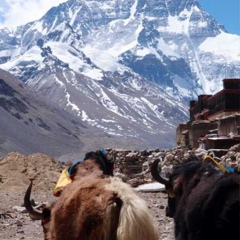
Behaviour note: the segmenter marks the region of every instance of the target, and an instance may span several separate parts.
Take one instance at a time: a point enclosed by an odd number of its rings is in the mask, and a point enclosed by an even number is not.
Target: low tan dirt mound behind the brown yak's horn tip
[[[0,160],[0,189],[26,189],[29,179],[34,178],[35,188],[51,190],[61,170],[62,166],[47,155],[12,152]]]

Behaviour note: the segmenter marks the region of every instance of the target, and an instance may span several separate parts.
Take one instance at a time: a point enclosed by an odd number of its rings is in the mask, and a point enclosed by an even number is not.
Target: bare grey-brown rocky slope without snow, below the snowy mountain
[[[31,91],[12,74],[0,70],[0,156],[12,151],[44,153],[73,160],[90,149],[147,147],[134,136],[128,139],[86,125],[43,96]]]

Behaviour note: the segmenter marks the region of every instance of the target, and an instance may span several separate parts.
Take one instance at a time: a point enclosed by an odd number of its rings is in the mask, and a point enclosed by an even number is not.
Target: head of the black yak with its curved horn
[[[176,209],[179,205],[179,201],[183,195],[183,189],[186,189],[186,185],[189,183],[189,179],[199,168],[200,161],[191,157],[186,160],[185,165],[175,166],[169,178],[161,176],[161,169],[158,167],[159,159],[156,159],[151,166],[152,177],[159,183],[165,185],[166,193],[168,194],[168,205],[166,207],[166,216],[174,217]],[[194,164],[192,164],[194,163]],[[194,165],[194,167],[193,167]]]

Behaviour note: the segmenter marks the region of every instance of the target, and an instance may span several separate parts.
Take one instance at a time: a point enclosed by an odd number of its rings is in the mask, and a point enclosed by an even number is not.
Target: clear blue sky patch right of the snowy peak
[[[240,35],[240,0],[198,0],[202,8],[224,25],[229,33]]]

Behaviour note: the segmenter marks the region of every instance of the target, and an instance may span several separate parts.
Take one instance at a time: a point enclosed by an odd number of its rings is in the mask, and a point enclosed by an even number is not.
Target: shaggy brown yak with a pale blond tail
[[[106,159],[99,162],[96,156],[87,154],[72,183],[42,211],[31,205],[30,183],[24,204],[32,219],[42,221],[45,240],[158,240],[147,203],[130,185],[104,171]]]

